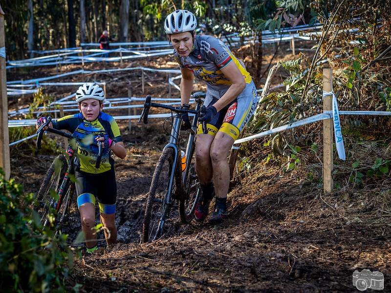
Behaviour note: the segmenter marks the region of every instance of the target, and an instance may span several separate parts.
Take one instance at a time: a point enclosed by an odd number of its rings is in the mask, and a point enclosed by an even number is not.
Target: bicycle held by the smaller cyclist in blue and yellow
[[[45,131],[49,131],[70,139],[67,146],[67,156],[61,154],[54,159],[49,169],[47,170],[43,182],[37,194],[37,202],[34,203],[33,209],[38,212],[41,218],[43,230],[50,227],[55,233],[63,227],[69,226],[69,222],[76,222],[76,219],[70,218],[70,206],[72,203],[75,184],[72,181],[71,174],[74,174],[74,143],[79,143],[81,138],[61,130],[47,127],[51,117],[46,118],[46,122],[37,130],[38,149],[41,149],[42,136]],[[102,158],[102,144],[98,142],[99,153],[95,163],[95,167],[99,168]]]

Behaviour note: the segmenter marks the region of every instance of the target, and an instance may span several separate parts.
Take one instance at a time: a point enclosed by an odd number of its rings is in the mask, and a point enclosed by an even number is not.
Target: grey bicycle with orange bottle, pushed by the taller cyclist
[[[190,224],[194,217],[195,207],[202,192],[194,166],[195,133],[198,117],[202,117],[205,113],[205,106],[201,104],[206,93],[197,92],[193,96],[196,102],[195,110],[189,109],[190,105],[172,107],[151,103],[151,96],[147,96],[145,100],[139,122],[143,120],[144,124],[147,124],[150,108],[159,107],[172,111],[172,123],[171,132],[166,130],[170,135],[169,143],[164,147],[157,162],[148,194],[142,234],[144,243],[159,239],[163,235],[165,222],[170,216],[175,200],[179,202],[179,218],[183,224]],[[180,147],[182,137],[179,131],[184,113],[194,114],[194,119],[191,128],[188,129],[186,167],[182,170]],[[203,129],[206,130],[206,127],[203,126]]]

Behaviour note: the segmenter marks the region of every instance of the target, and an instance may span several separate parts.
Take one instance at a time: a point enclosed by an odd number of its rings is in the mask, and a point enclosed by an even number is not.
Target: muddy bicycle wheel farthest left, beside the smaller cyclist
[[[56,199],[54,198],[61,188],[65,177],[68,163],[64,155],[59,155],[50,165],[45,178],[37,194],[37,203],[34,204],[34,210],[38,212],[43,227],[49,225],[50,209],[55,208]],[[54,210],[53,210],[54,211]]]

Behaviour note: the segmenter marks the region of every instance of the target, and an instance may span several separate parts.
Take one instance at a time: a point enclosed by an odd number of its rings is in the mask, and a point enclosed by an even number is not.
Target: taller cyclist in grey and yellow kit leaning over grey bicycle
[[[194,77],[207,85],[204,101],[206,115],[199,119],[207,123],[208,134],[198,126],[195,146],[195,169],[202,196],[195,209],[195,220],[203,221],[213,197],[215,208],[209,223],[226,217],[229,187],[228,151],[248,123],[257,104],[257,91],[243,63],[228,46],[212,36],[195,34],[197,20],[187,10],[176,10],[164,21],[164,30],[174,46],[174,58],[179,64],[181,103],[188,104]],[[184,115],[184,126],[190,127]]]

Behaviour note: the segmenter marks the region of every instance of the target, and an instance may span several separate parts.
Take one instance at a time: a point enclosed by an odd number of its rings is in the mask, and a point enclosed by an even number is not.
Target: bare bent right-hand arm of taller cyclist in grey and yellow
[[[217,109],[217,112],[235,100],[246,87],[246,81],[235,62],[231,61],[220,70],[231,81],[231,86],[225,94],[213,104]]]

